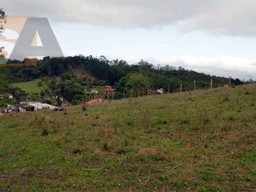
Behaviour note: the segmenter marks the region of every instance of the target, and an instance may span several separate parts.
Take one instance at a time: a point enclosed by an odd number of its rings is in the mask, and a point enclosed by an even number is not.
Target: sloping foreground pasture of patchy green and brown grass
[[[0,116],[2,191],[255,191],[256,86]]]

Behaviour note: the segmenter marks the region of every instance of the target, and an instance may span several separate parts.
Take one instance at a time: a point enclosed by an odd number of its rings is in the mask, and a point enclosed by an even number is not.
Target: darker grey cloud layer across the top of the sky
[[[9,14],[37,14],[54,22],[113,28],[178,26],[181,31],[255,36],[254,0],[3,0]]]

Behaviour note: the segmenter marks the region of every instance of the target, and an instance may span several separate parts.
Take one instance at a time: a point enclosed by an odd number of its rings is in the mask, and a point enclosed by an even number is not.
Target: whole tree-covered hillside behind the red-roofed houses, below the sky
[[[136,64],[128,64],[124,60],[109,61],[104,56],[93,58],[80,55],[63,58],[45,57],[42,60],[36,60],[35,66],[27,66],[26,64],[30,61],[24,60],[23,66],[20,67],[1,68],[0,92],[13,94],[17,102],[28,99],[60,105],[61,102],[51,100],[52,97],[60,96],[76,105],[96,95],[102,96],[100,92],[95,94],[86,90],[90,88],[101,90],[102,86],[106,85],[113,86],[116,92],[103,94],[103,96],[118,99],[143,96],[148,90],[159,88],[163,88],[165,92],[178,92],[181,84],[182,91],[194,90],[194,80],[197,89],[210,88],[211,79],[213,88],[228,84],[229,81],[228,78],[210,76],[182,67],[154,66],[144,60]],[[22,64],[19,61],[9,62]],[[28,87],[32,80],[41,81],[40,84],[44,83],[46,86],[43,88],[34,84]],[[28,83],[15,84],[14,82]],[[239,79],[232,79],[231,83],[232,85],[242,84]],[[16,88],[17,85],[20,86]],[[4,106],[4,103],[2,105]]]

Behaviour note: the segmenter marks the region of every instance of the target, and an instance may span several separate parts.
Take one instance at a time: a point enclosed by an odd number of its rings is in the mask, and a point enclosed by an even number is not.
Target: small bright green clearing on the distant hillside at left
[[[34,93],[40,94],[41,90],[44,90],[47,88],[47,85],[45,82],[42,83],[42,86],[38,87],[38,82],[42,81],[42,79],[35,79],[28,82],[19,82],[19,83],[12,83],[11,85],[13,87],[19,87],[22,90],[26,91],[29,95],[32,95]]]

